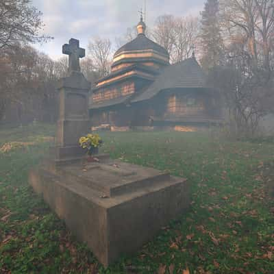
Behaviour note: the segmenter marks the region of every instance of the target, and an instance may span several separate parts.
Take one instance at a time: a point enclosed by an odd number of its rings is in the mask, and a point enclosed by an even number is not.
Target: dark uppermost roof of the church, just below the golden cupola
[[[123,47],[116,51],[116,53],[114,54],[114,58],[125,51],[144,51],[148,49],[169,56],[169,53],[166,51],[166,49],[147,38],[145,34],[138,34],[138,36],[134,40],[123,45]]]

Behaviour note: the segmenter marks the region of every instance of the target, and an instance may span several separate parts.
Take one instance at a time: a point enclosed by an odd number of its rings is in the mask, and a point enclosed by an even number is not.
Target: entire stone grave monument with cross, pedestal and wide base
[[[186,179],[111,160],[86,162],[79,136],[88,133],[88,83],[80,72],[84,49],[71,39],[68,77],[61,79],[55,153],[29,173],[29,183],[99,262],[108,266],[142,245],[189,206]]]

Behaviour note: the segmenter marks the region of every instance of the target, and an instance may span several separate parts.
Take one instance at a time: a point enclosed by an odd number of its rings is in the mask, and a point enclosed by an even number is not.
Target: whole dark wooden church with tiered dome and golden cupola
[[[140,19],[138,36],[116,51],[110,75],[99,79],[90,96],[92,125],[197,129],[221,123],[216,92],[192,58],[169,63],[169,53],[145,36]]]

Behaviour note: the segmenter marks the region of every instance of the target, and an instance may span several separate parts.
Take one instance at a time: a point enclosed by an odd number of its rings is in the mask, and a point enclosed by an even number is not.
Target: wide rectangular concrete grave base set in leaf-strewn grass
[[[108,266],[134,253],[189,206],[186,179],[110,160],[48,162],[33,169],[29,183],[73,234]]]

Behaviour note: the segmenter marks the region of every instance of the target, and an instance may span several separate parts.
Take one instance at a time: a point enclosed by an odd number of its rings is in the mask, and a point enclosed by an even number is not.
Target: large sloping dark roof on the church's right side
[[[146,90],[132,99],[132,103],[151,99],[161,90],[171,88],[206,88],[206,75],[195,58],[166,66]]]

